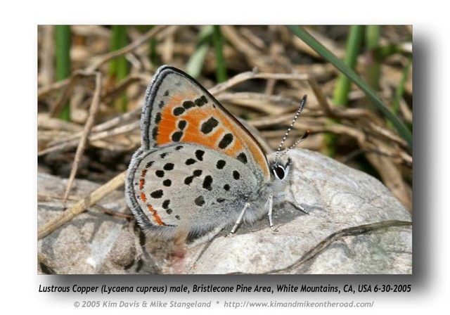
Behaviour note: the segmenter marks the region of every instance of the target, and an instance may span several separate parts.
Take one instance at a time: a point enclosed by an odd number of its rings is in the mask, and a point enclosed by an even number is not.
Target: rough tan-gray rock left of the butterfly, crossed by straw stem
[[[38,226],[63,212],[62,196],[67,180],[38,174]],[[77,180],[70,202],[79,200],[100,185]],[[127,210],[122,191],[115,191],[99,204],[103,209]],[[136,273],[136,237],[127,231],[129,220],[92,208],[38,241],[39,272],[54,274]],[[130,239],[131,236],[131,239]],[[139,243],[139,241],[138,241]]]

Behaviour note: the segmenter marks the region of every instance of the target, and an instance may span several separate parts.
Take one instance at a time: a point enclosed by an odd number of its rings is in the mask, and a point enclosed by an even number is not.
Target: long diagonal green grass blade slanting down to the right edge
[[[322,58],[332,63],[336,68],[338,68],[338,70],[345,73],[345,75],[347,75],[347,77],[349,77],[349,79],[352,80],[354,84],[359,86],[359,88],[364,91],[366,96],[378,107],[378,109],[381,110],[387,120],[390,120],[390,122],[392,122],[394,128],[397,129],[400,136],[406,141],[406,143],[408,143],[409,148],[413,148],[413,135],[411,131],[409,131],[409,129],[407,129],[406,126],[398,119],[398,117],[395,116],[389,108],[387,108],[385,103],[383,103],[381,98],[378,96],[378,94],[376,94],[371,86],[369,86],[363,79],[361,79],[361,77],[359,77],[356,72],[345,65],[345,63],[343,63],[338,57],[328,51],[328,49],[320,44],[319,41],[316,41],[316,39],[314,39],[314,37],[312,37],[308,32],[296,25],[288,25],[287,27],[297,37],[302,39],[306,44],[314,49],[314,51],[319,53]]]

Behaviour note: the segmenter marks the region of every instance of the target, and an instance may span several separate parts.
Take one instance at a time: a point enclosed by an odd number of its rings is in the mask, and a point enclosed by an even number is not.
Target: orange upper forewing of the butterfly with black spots
[[[260,181],[269,179],[264,150],[236,118],[192,77],[163,66],[146,93],[141,117],[142,148],[197,143],[248,165]]]

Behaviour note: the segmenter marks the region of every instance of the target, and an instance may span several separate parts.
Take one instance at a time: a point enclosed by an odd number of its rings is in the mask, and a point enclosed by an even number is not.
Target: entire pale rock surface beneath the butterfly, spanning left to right
[[[309,211],[286,204],[274,210],[277,232],[266,217],[243,224],[234,236],[221,232],[187,247],[144,238],[129,220],[89,210],[38,242],[45,270],[57,274],[411,274],[411,214],[383,184],[363,172],[309,150],[290,150],[290,193]],[[286,157],[287,158],[287,157]],[[77,181],[74,198],[97,185]],[[65,181],[39,174],[39,195],[63,195]],[[123,192],[102,200],[109,210],[128,212]],[[60,201],[38,203],[41,225],[62,210]],[[351,229],[390,221],[383,227]],[[134,222],[134,221],[131,221]],[[131,226],[133,227],[133,226]],[[333,233],[315,255],[299,262]],[[347,232],[347,233],[345,233]],[[289,267],[289,269],[286,269]],[[277,271],[278,270],[278,271]],[[47,271],[48,272],[48,271]]]

